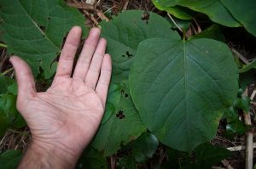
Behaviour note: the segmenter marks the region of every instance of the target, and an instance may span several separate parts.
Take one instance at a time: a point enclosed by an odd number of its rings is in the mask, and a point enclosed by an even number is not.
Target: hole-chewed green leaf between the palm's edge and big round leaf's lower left
[[[92,142],[92,146],[103,150],[106,156],[116,153],[121,144],[128,144],[146,130],[131,101],[129,87],[123,84],[119,92],[122,96],[114,105],[113,115],[101,125]]]

